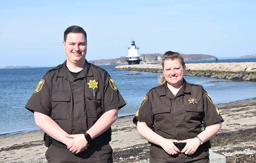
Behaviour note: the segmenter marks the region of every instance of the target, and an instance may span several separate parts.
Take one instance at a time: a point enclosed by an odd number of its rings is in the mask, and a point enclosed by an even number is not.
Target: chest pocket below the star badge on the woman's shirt
[[[192,128],[200,125],[204,113],[203,105],[184,105],[186,110],[186,125]]]

